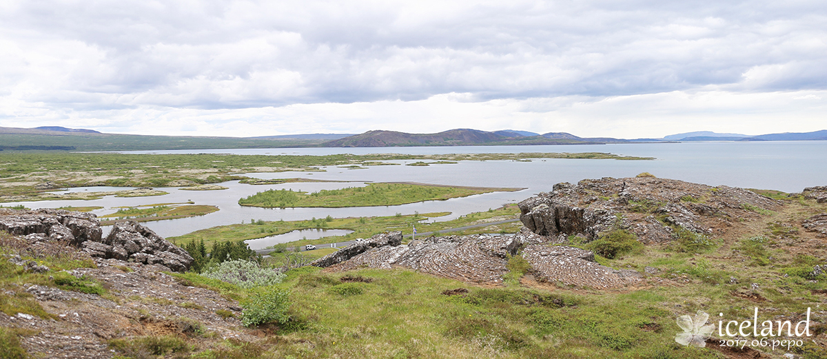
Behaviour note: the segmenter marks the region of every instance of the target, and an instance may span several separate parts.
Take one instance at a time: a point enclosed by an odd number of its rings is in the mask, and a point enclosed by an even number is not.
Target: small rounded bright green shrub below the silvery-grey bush
[[[263,323],[287,323],[289,292],[274,287],[258,290],[241,304],[241,324],[252,327]]]

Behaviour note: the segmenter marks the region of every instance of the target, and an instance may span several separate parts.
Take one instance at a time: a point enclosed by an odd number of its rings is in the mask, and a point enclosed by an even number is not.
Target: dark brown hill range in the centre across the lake
[[[590,143],[569,138],[545,138],[543,136],[519,136],[514,131],[506,133],[486,132],[469,128],[457,128],[439,133],[406,133],[395,131],[368,131],[334,141],[323,147],[387,147],[387,146],[474,146],[474,145],[568,145]],[[533,133],[533,132],[529,132]],[[570,135],[571,136],[571,135]],[[576,136],[574,136],[576,137]],[[579,138],[579,137],[577,137]]]

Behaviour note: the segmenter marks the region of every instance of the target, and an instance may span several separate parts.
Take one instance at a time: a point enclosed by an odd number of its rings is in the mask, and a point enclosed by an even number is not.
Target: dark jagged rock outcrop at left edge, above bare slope
[[[60,241],[79,247],[89,256],[161,265],[174,271],[185,271],[193,258],[151,229],[134,221],[115,223],[105,238],[97,216],[92,213],[55,209],[36,211],[3,211],[0,229],[26,237],[33,246],[38,242]]]

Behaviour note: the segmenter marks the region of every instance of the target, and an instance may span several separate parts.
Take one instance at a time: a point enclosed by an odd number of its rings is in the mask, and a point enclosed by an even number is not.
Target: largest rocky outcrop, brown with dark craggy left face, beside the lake
[[[623,227],[644,243],[669,241],[676,230],[710,235],[734,218],[779,206],[747,189],[654,177],[555,184],[552,192],[519,203],[523,225],[549,241],[572,235],[595,239]]]

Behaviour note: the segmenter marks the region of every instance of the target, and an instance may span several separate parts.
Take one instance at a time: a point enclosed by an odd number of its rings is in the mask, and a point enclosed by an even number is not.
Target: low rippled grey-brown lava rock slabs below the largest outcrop
[[[320,258],[315,266],[327,266],[330,271],[359,268],[409,268],[453,280],[482,284],[502,284],[508,273],[509,256],[523,248],[523,258],[540,281],[595,289],[614,289],[634,285],[640,275],[634,270],[613,270],[595,262],[595,255],[575,247],[550,246],[544,238],[523,231],[516,236],[448,236],[429,237],[400,245],[386,237],[401,237],[395,232],[379,235],[369,242],[385,243],[364,251],[365,245],[352,245],[332,255]],[[357,247],[358,246],[358,247]],[[356,251],[359,251],[356,253]],[[356,253],[352,256],[346,253]]]

